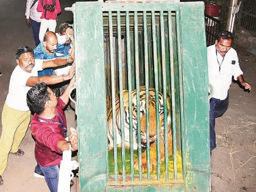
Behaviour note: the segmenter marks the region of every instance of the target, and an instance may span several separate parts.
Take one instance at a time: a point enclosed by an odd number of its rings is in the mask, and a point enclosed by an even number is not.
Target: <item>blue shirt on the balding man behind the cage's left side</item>
[[[68,57],[68,50],[71,48],[70,44],[68,46],[64,44],[57,44],[56,51],[49,55],[46,51],[44,51],[43,42],[38,44],[38,46],[34,49],[34,57],[35,59],[54,59],[56,57]],[[43,69],[42,71],[38,71],[38,77],[41,76],[52,76],[53,69]]]

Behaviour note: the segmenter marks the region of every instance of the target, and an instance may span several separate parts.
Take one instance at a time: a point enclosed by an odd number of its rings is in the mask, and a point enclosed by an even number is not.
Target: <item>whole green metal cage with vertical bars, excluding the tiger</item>
[[[76,2],[72,10],[76,42],[80,191],[210,191],[204,4]],[[160,121],[157,115],[160,106],[158,93],[163,96],[163,124],[167,124],[167,115],[171,118],[172,143],[167,142],[166,126],[163,130],[163,161],[158,155],[160,130],[156,130],[155,173],[149,167],[148,136],[146,148],[141,148],[141,135],[138,134],[138,151],[133,150],[132,143],[127,151],[124,140],[121,148],[117,148],[117,136],[113,131],[114,147],[112,152],[108,151],[106,98],[111,98],[115,121],[113,101],[117,95],[122,111],[123,90],[127,90],[131,116],[130,106],[140,106],[141,86],[145,87],[146,98],[147,90],[154,88],[156,127]],[[132,90],[136,90],[134,103],[130,98]],[[169,113],[167,102],[171,105]],[[138,116],[140,112],[137,112],[140,133]],[[124,121],[122,117],[121,121]],[[132,135],[131,123],[129,126]],[[132,140],[130,137],[130,142]],[[170,144],[172,154],[168,154]],[[147,153],[146,172],[141,171],[143,150]],[[129,168],[125,163],[127,156]],[[134,168],[134,158],[139,161],[138,171]],[[121,166],[118,166],[118,161]]]

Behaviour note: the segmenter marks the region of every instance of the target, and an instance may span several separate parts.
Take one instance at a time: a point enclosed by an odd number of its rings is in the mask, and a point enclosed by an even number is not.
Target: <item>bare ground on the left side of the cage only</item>
[[[73,21],[73,13],[64,10],[65,7],[71,7],[74,1],[60,1],[62,13],[58,16],[56,30],[63,22]],[[5,102],[8,93],[10,75],[16,66],[15,51],[22,45],[28,45],[35,48],[32,29],[26,25],[24,16],[26,10],[26,0],[8,0],[0,1],[0,40],[2,42],[0,57],[0,111]],[[68,127],[74,127],[74,112],[69,110],[66,112],[68,117]],[[2,124],[0,124],[0,132],[2,132]],[[0,191],[49,191],[44,179],[34,177],[34,168],[36,165],[34,157],[34,140],[30,135],[30,129],[26,133],[20,148],[25,154],[22,157],[9,155],[9,161],[4,174],[4,185],[0,186]],[[74,180],[75,181],[75,180]],[[74,189],[76,187],[73,187]],[[72,189],[73,189],[72,188]],[[73,190],[74,191],[74,190]]]

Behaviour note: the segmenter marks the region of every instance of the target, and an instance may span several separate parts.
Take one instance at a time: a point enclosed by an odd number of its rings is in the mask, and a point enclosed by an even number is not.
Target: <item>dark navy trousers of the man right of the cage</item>
[[[211,151],[216,148],[215,135],[215,118],[222,116],[229,107],[229,94],[224,100],[211,98],[210,99],[210,148]]]

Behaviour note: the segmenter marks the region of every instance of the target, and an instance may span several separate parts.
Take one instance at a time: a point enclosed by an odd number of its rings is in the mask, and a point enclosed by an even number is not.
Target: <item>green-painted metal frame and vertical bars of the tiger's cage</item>
[[[137,12],[144,13],[143,21],[138,20]],[[163,11],[163,12],[160,12]],[[171,13],[172,11],[172,13]],[[77,63],[77,126],[79,130],[79,180],[80,191],[210,191],[210,157],[209,157],[209,133],[208,133],[208,80],[207,80],[207,59],[204,33],[204,4],[203,2],[191,3],[147,3],[147,4],[116,4],[103,2],[76,2],[73,5],[74,30],[76,34],[76,63]],[[174,179],[168,180],[168,170],[165,169],[165,180],[160,175],[160,157],[157,157],[157,180],[152,180],[148,171],[147,175],[135,177],[133,167],[133,144],[130,144],[130,167],[131,174],[126,176],[125,165],[122,165],[122,178],[118,175],[118,168],[115,168],[115,182],[108,180],[108,151],[107,151],[107,124],[106,101],[105,101],[105,73],[104,73],[104,51],[103,38],[104,23],[102,12],[117,14],[116,21],[109,21],[109,26],[118,23],[113,31],[117,35],[118,48],[115,47],[115,55],[118,58],[119,82],[123,82],[121,68],[121,35],[122,22],[121,14],[126,14],[126,52],[127,52],[127,74],[129,93],[133,88],[132,79],[141,79],[132,71],[139,71],[138,63],[144,62],[145,76],[144,83],[155,87],[158,90],[171,93],[172,106],[172,134],[173,134],[173,158],[174,158]],[[163,21],[163,15],[168,12],[168,24]],[[174,12],[174,13],[173,13]],[[133,15],[134,13],[134,15]],[[147,21],[146,14],[152,14],[152,21]],[[173,16],[172,16],[172,15]],[[155,24],[155,16],[160,18],[160,28]],[[130,16],[134,17],[133,23]],[[109,16],[108,18],[111,18]],[[119,19],[118,19],[119,18]],[[110,19],[111,20],[111,19]],[[152,23],[151,23],[152,22]],[[149,26],[148,26],[149,24]],[[166,26],[165,26],[166,25]],[[120,26],[120,27],[119,27]],[[162,27],[164,26],[164,27]],[[130,29],[135,29],[135,34],[130,34]],[[139,29],[143,28],[143,33]],[[151,30],[153,32],[151,32]],[[110,38],[113,36],[110,29]],[[163,38],[162,34],[168,31],[168,37]],[[171,36],[171,37],[170,37]],[[134,41],[132,43],[131,41]],[[110,49],[113,49],[113,42],[110,40]],[[144,43],[138,43],[142,42]],[[165,42],[168,42],[165,43]],[[137,44],[138,43],[138,44]],[[137,47],[144,45],[144,49],[138,51]],[[193,49],[193,45],[196,47]],[[135,48],[133,49],[133,46]],[[166,49],[169,48],[169,51]],[[162,50],[163,49],[163,50]],[[144,55],[138,55],[144,52]],[[158,52],[158,53],[157,53]],[[113,52],[108,56],[110,63],[114,64]],[[133,59],[134,58],[134,59]],[[135,62],[134,62],[135,60]],[[132,69],[134,64],[135,69]],[[166,68],[171,74],[159,71],[158,68]],[[165,66],[167,65],[167,66]],[[133,66],[133,67],[134,67]],[[114,67],[112,66],[112,69]],[[152,71],[154,73],[152,74]],[[110,71],[112,77],[114,71]],[[162,77],[161,77],[162,76]],[[163,87],[158,87],[159,79],[163,78]],[[166,82],[165,82],[165,77]],[[116,79],[118,79],[116,77]],[[112,79],[112,86],[115,85],[115,78]],[[171,84],[168,85],[168,84]],[[136,87],[140,80],[136,82]],[[123,90],[123,84],[119,90]],[[168,88],[169,86],[169,88]],[[165,88],[167,87],[167,90]],[[112,91],[115,86],[112,87]],[[115,93],[116,91],[114,91]],[[122,92],[122,93],[121,93]],[[123,101],[123,91],[119,91],[120,101]],[[113,92],[112,92],[112,95]],[[158,94],[156,101],[158,102]],[[138,98],[138,96],[137,96]],[[112,98],[113,99],[113,98]],[[146,100],[148,92],[146,87]],[[114,99],[115,101],[115,99]],[[123,102],[122,102],[123,103]],[[131,106],[129,94],[129,105]],[[138,105],[138,100],[137,100]],[[166,101],[165,101],[166,106]],[[122,106],[120,106],[122,108]],[[114,106],[112,106],[114,108]],[[146,106],[147,108],[147,106]],[[158,112],[158,104],[156,104]],[[146,110],[148,113],[148,110]],[[166,108],[165,108],[166,113]],[[158,114],[158,113],[157,113]],[[129,109],[129,116],[132,111]],[[123,117],[121,116],[121,124]],[[132,118],[130,119],[130,123]],[[149,119],[146,118],[147,138]],[[159,127],[159,116],[157,116],[157,127]],[[123,125],[124,126],[124,125]],[[114,126],[115,127],[115,126]],[[121,125],[122,127],[122,125]],[[121,128],[121,132],[124,129]],[[130,133],[132,126],[130,124]],[[166,128],[165,128],[166,129]],[[180,130],[181,129],[181,130]],[[132,135],[132,134],[130,134]],[[182,149],[180,149],[180,135]],[[115,136],[114,136],[115,137]],[[132,143],[132,137],[130,142]],[[115,139],[114,139],[115,140]],[[124,138],[122,138],[124,141]],[[149,146],[149,142],[147,141]],[[159,152],[159,130],[157,133],[157,151]],[[139,147],[140,148],[140,147]],[[166,147],[165,147],[166,148]],[[177,177],[177,154],[182,152],[183,179]],[[159,153],[158,153],[159,154]],[[200,157],[198,157],[200,154]],[[114,157],[116,153],[114,151]],[[149,157],[149,151],[147,151]],[[122,160],[125,159],[124,145],[122,144]],[[165,157],[166,161],[166,157]],[[148,170],[149,167],[148,158]],[[141,168],[140,168],[141,169]],[[120,168],[121,170],[121,168]],[[146,179],[145,179],[146,177]],[[118,182],[123,179],[123,182]],[[140,181],[141,180],[141,181]]]

